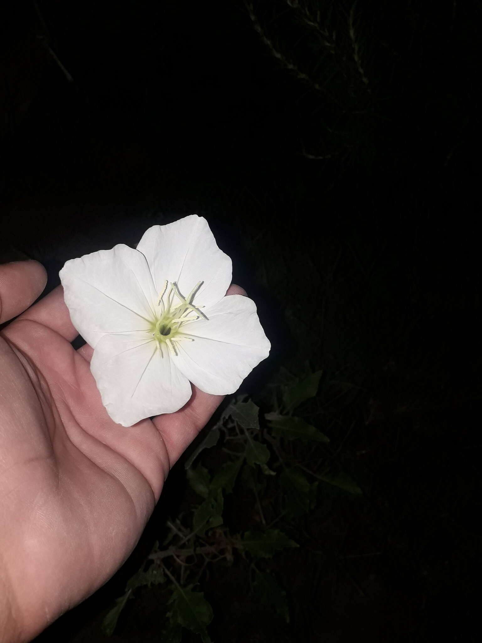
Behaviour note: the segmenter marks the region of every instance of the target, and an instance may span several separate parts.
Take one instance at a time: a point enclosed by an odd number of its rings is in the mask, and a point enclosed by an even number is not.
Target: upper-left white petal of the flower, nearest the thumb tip
[[[72,323],[93,348],[106,332],[147,331],[154,318],[152,275],[129,246],[67,261],[60,281]]]

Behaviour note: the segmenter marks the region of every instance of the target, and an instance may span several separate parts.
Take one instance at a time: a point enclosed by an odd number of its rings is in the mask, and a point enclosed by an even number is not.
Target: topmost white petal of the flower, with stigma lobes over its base
[[[193,303],[207,307],[219,302],[231,284],[231,259],[218,248],[204,217],[190,215],[166,226],[152,226],[137,248],[147,258],[158,293],[168,280],[177,282],[187,297],[202,281]]]

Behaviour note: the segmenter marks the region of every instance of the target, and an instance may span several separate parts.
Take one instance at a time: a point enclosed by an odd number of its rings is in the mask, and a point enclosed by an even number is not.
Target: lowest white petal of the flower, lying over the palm
[[[94,350],[91,371],[102,403],[114,422],[136,422],[173,413],[192,395],[167,348],[163,353],[147,334],[106,334]]]

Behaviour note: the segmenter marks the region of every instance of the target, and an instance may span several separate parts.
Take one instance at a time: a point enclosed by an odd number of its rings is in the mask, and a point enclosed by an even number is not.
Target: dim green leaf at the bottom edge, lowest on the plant
[[[213,620],[213,610],[204,598],[204,593],[193,592],[192,585],[185,589],[177,587],[169,603],[172,604],[168,613],[171,626],[179,624],[196,634],[201,634],[204,641],[210,640],[206,627]]]

